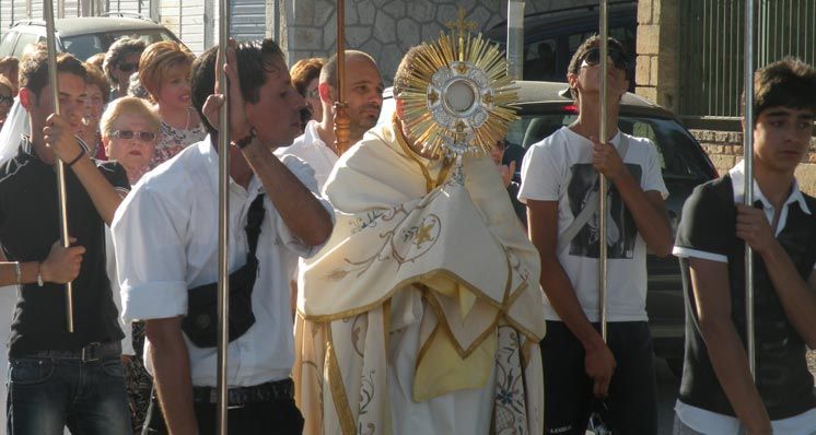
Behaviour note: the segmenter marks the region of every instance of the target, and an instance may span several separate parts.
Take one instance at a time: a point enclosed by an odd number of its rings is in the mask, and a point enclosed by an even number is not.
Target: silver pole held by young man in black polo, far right
[[[754,0],[745,2],[745,122],[743,122],[743,158],[745,162],[744,203],[754,204]],[[748,367],[756,377],[756,339],[754,337],[754,250],[745,244],[745,341]]]

